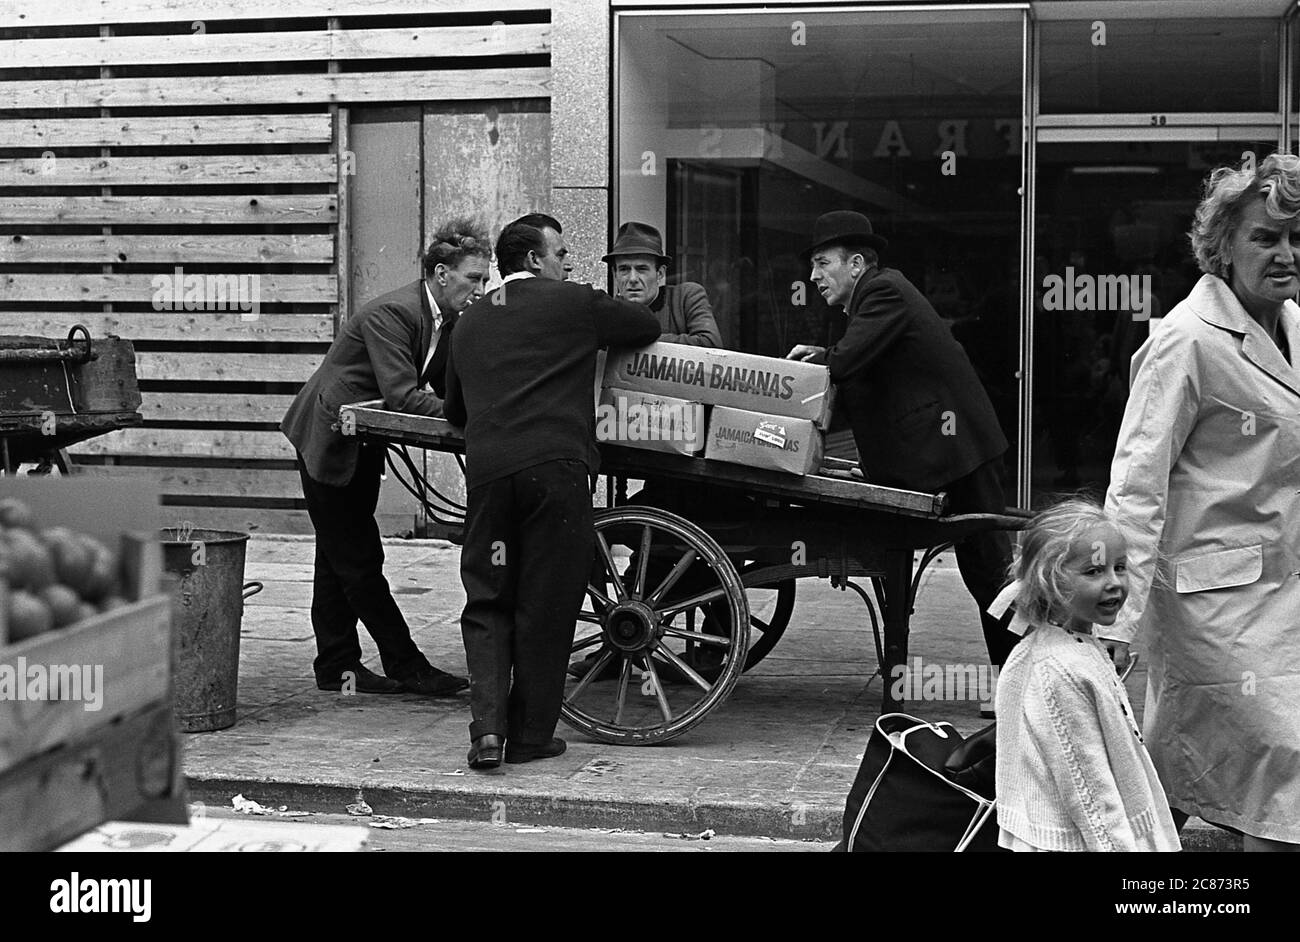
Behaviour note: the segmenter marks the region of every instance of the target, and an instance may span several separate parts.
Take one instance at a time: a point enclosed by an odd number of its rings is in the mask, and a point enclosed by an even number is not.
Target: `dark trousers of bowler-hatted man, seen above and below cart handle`
[[[1002,492],[1002,459],[985,461],[970,474],[940,490],[948,491],[949,513],[1002,513],[1006,499]],[[984,626],[984,644],[988,659],[1001,667],[1019,638],[1006,630],[1006,620],[985,612],[1010,576],[1011,539],[1005,530],[985,530],[967,537],[957,544],[957,569],[962,582],[979,605]]]

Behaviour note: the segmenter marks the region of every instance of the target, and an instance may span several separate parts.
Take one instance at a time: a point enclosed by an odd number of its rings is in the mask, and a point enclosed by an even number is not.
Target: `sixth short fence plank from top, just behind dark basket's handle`
[[[334,339],[333,314],[268,314],[244,320],[240,312],[217,311],[0,311],[0,335],[68,337],[73,325],[84,325],[92,338],[127,340],[194,340],[221,343],[329,343]]]

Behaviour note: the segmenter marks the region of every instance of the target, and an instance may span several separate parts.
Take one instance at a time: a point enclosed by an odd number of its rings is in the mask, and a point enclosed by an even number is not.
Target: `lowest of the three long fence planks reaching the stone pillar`
[[[536,66],[0,82],[0,109],[549,99],[550,81],[550,68]]]

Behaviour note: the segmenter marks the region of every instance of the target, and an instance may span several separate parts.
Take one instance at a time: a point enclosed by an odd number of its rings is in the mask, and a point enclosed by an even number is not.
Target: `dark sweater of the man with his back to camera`
[[[572,282],[520,278],[471,304],[451,338],[445,411],[465,430],[467,487],[554,460],[595,473],[595,351],[658,338],[646,305]]]

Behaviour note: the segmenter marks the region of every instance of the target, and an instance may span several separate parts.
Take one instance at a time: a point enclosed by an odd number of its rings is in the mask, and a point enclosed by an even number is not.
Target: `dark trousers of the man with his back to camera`
[[[549,743],[595,551],[586,465],[546,461],[471,489],[465,503],[469,737]]]

